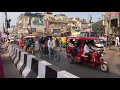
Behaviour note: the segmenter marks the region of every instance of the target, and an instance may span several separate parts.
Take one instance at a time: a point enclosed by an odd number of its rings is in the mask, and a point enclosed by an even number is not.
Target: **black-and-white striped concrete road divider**
[[[23,78],[80,78],[12,45],[9,55]]]

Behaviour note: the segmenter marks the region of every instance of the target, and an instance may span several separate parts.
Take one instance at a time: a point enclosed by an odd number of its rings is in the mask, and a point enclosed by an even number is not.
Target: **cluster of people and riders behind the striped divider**
[[[40,49],[44,53],[51,53],[51,49],[54,47],[59,47],[60,40],[58,38],[53,38],[52,36],[42,36],[26,39],[25,42],[22,38],[18,40],[19,48],[23,48],[24,43],[26,43],[25,51],[29,49],[29,47],[34,47],[35,51],[39,51]]]

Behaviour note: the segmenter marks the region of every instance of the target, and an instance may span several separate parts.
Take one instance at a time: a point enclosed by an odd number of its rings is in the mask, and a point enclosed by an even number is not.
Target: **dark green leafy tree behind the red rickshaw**
[[[104,26],[102,25],[102,20],[93,23],[92,30],[97,33],[104,33]]]

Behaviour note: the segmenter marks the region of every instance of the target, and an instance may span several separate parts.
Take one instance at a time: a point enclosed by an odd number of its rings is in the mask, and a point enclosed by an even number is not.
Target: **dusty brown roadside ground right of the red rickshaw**
[[[108,62],[110,71],[120,75],[120,52],[118,47],[112,46],[110,50],[107,48],[104,58]]]

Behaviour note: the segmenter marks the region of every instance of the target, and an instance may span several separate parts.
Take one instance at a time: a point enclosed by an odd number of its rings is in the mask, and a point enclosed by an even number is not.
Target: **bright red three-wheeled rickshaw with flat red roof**
[[[91,57],[84,55],[84,46],[86,42],[94,42],[100,39],[96,37],[67,37],[66,39],[66,52],[67,52],[67,59],[69,63],[73,63],[74,61],[78,61],[80,63],[87,63],[88,65],[96,68],[100,67],[103,72],[107,72],[109,70],[107,62],[104,61],[103,56],[103,48],[98,49],[97,51],[92,50]],[[76,50],[76,46],[79,47],[79,50]]]

